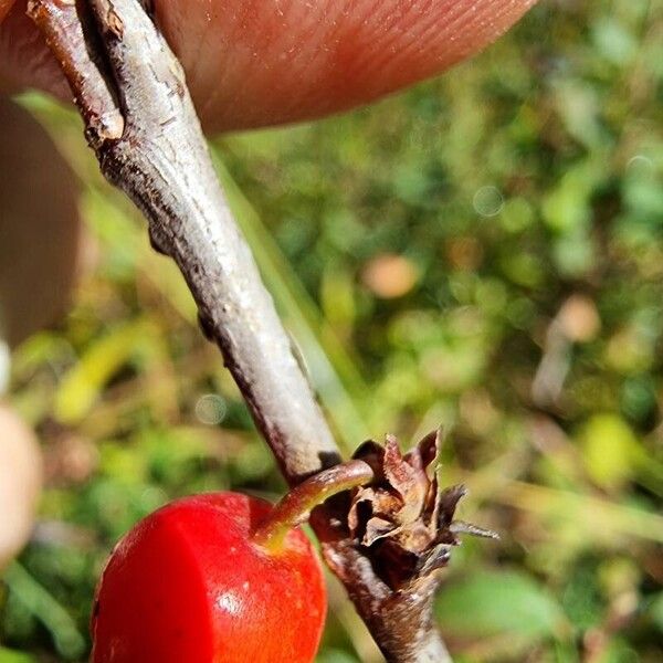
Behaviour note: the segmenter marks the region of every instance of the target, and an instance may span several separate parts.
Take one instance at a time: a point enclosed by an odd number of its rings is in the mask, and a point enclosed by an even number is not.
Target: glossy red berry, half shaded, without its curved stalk
[[[236,493],[173,502],[114,550],[92,620],[93,663],[311,663],[326,613],[320,564],[298,529],[267,552],[272,506]]]

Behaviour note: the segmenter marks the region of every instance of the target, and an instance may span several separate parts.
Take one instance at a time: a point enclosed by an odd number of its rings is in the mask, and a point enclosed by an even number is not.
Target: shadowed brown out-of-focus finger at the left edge
[[[0,97],[0,336],[10,346],[63,314],[82,264],[74,175],[24,109]]]

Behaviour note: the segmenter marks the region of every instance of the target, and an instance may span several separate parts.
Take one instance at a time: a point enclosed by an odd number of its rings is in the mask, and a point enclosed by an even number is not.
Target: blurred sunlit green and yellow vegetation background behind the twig
[[[438,613],[459,661],[663,661],[663,3],[548,1],[441,80],[223,137],[220,176],[349,451],[442,423],[461,517]],[[83,661],[114,541],[168,499],[277,497],[175,267],[77,118],[22,103],[82,179],[96,246],[11,402],[48,487],[0,586],[1,663]],[[343,593],[319,663],[380,661]]]

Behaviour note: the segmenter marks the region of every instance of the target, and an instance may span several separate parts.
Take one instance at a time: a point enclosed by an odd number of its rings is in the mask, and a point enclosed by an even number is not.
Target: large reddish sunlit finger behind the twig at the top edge
[[[155,7],[206,128],[228,130],[319,117],[432,76],[493,42],[535,1],[155,0]],[[0,29],[0,78],[18,85],[28,77],[62,94],[45,56],[22,71],[36,49],[18,6]]]

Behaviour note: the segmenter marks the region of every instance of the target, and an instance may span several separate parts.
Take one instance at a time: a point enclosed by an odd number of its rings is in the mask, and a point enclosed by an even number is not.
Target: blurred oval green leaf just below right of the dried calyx
[[[474,571],[444,586],[436,615],[443,631],[467,638],[513,633],[534,643],[565,628],[559,604],[517,571]]]

